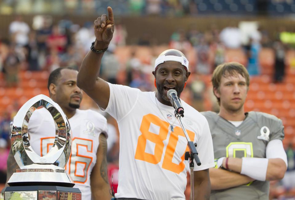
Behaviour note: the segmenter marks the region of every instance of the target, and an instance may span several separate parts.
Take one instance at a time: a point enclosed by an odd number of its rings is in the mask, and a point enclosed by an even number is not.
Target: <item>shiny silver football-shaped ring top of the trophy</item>
[[[55,123],[55,140],[52,148],[45,156],[34,152],[29,143],[29,119],[38,107],[46,108]],[[48,130],[43,130],[48,131]],[[51,168],[63,169],[71,152],[71,133],[68,118],[61,107],[51,98],[39,94],[27,101],[14,117],[11,129],[11,149],[21,169]]]

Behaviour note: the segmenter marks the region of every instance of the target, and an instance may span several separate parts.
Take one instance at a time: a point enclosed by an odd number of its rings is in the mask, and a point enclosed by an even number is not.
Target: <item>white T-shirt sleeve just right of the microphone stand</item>
[[[199,140],[197,141],[197,152],[201,165],[198,166],[194,160],[194,171],[204,170],[215,166],[213,142],[208,121],[206,119],[204,120],[203,132],[200,134]]]

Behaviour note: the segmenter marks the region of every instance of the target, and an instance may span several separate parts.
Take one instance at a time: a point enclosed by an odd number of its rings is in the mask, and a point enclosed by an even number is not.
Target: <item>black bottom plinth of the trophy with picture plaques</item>
[[[81,200],[79,188],[60,186],[12,186],[5,187],[0,200]]]

